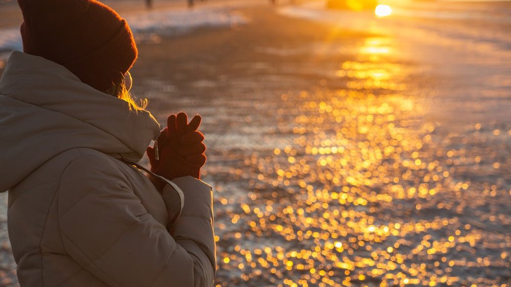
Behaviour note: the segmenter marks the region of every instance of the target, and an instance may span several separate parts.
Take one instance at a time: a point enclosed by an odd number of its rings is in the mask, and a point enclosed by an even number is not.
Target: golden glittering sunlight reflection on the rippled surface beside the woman
[[[283,94],[278,127],[293,142],[234,172],[253,175],[251,202],[219,198],[236,206],[218,226],[221,274],[243,286],[502,282],[509,163],[490,147],[505,146],[510,127],[425,122],[431,107],[401,81],[406,66],[382,60],[385,40],[358,51],[336,72],[346,89]]]

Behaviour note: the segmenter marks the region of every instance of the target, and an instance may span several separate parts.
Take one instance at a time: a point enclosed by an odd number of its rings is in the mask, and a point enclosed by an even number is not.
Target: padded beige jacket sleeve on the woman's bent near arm
[[[177,181],[189,203],[173,237],[147,212],[115,163],[98,156],[75,159],[58,190],[66,252],[109,286],[210,287],[215,270],[211,188],[189,178]]]

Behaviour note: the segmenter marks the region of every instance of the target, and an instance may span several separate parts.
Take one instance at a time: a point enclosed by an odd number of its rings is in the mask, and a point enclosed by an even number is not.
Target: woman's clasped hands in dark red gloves
[[[146,151],[151,172],[170,180],[181,176],[200,179],[200,169],[206,162],[206,146],[202,142],[204,136],[197,131],[200,122],[200,115],[196,115],[188,124],[188,116],[184,112],[177,116],[171,114],[167,118],[167,128],[160,133],[155,143],[159,159],[155,158],[154,147]]]

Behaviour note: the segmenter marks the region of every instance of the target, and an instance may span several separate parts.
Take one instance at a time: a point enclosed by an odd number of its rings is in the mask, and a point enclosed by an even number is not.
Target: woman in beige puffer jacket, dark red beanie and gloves
[[[24,53],[0,80],[0,191],[21,287],[211,286],[200,117],[168,128],[129,97],[137,50],[94,0],[19,0]],[[136,162],[147,149],[146,177]]]

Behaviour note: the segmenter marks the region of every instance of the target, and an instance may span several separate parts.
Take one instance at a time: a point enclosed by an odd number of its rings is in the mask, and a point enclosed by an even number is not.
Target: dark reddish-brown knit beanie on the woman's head
[[[18,0],[23,51],[61,64],[106,91],[137,57],[126,20],[95,0]]]

